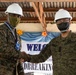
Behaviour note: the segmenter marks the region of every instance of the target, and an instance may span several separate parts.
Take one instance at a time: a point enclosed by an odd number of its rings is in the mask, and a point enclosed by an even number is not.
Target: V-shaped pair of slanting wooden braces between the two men
[[[43,31],[47,32],[47,29],[46,29],[47,25],[46,25],[46,20],[44,16],[42,2],[32,2],[32,5],[40,23],[42,24]]]

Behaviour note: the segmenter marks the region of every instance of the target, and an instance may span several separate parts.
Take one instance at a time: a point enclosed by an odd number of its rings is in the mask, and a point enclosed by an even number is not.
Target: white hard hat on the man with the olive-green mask
[[[13,4],[9,5],[7,7],[5,13],[6,14],[12,13],[12,14],[18,14],[18,15],[23,16],[22,8],[17,3],[13,3]]]

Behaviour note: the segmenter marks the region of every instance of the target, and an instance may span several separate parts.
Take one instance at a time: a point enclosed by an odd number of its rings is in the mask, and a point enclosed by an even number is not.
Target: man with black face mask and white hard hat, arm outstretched
[[[54,21],[61,34],[52,39],[38,55],[28,55],[26,61],[40,63],[52,55],[53,75],[76,75],[76,33],[69,30],[72,17],[67,10],[60,9]]]

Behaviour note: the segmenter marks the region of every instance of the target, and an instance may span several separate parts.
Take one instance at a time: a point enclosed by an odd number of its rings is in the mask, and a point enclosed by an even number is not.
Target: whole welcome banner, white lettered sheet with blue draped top
[[[25,51],[27,54],[35,55],[39,54],[42,48],[51,41],[53,38],[60,35],[56,32],[48,32],[46,37],[42,36],[41,32],[25,32],[21,36],[22,48],[21,51]],[[53,73],[53,64],[52,56],[50,56],[45,62],[42,63],[23,63],[23,68],[25,73],[45,73],[46,75],[52,75]],[[44,75],[45,75],[44,74]]]

